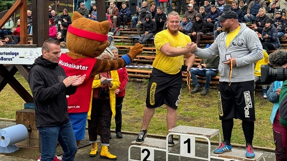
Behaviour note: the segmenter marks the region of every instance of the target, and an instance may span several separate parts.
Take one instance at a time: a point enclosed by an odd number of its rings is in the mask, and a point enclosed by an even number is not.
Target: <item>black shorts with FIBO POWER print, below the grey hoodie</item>
[[[255,121],[254,81],[219,82],[218,87],[219,119],[236,118]]]

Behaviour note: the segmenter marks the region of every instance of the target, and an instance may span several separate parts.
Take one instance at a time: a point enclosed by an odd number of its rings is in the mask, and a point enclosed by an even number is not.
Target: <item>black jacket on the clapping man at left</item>
[[[57,63],[38,57],[29,73],[29,85],[35,105],[36,127],[63,125],[69,121],[66,95],[76,92],[76,87],[66,87],[66,74]]]

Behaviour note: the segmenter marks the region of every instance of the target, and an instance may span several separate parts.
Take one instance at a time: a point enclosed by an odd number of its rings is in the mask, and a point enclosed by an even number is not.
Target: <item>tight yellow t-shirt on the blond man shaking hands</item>
[[[152,66],[166,74],[177,74],[184,63],[183,55],[168,57],[160,51],[160,48],[166,43],[169,43],[171,47],[184,48],[189,42],[191,42],[190,37],[181,32],[178,32],[176,36],[170,34],[167,29],[158,32],[154,37],[156,55]]]

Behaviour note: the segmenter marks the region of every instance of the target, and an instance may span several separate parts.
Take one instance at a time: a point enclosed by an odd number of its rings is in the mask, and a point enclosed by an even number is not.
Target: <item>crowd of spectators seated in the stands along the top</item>
[[[84,1],[76,0],[76,2],[78,3],[75,10],[86,18],[97,20],[96,4],[86,7]],[[144,36],[143,26],[146,23],[146,15],[150,16],[149,20],[155,22],[156,32],[159,32],[166,29],[166,17],[172,10],[170,10],[170,5],[171,7],[176,5],[177,12],[181,12],[181,9],[183,9],[180,31],[190,37],[194,37],[196,43],[199,44],[200,38],[204,35],[214,35],[215,39],[221,33],[218,17],[225,11],[233,10],[238,14],[238,21],[246,23],[247,26],[256,31],[263,44],[272,41],[274,45],[271,46],[269,43],[268,47],[265,48],[266,50],[281,48],[279,39],[286,32],[286,0],[274,0],[273,2],[265,0],[234,0],[228,4],[226,0],[190,0],[189,3],[178,0],[175,4],[171,2],[172,0],[154,0],[151,3],[143,1],[142,6],[136,6],[136,14],[132,15],[127,2],[122,2],[121,8],[118,8],[114,1],[110,1],[106,19],[111,19],[111,26],[113,27],[120,29],[136,28],[138,35]],[[32,34],[32,15],[30,10],[27,10],[27,17],[27,34]],[[49,18],[53,19],[52,26],[56,26],[57,29],[57,34],[53,38],[65,41],[65,30],[68,28],[65,26],[69,26],[72,23],[68,10],[64,8],[62,14],[58,15],[49,6]],[[266,26],[267,20],[269,20],[270,26]],[[11,20],[8,20],[1,27],[0,37],[2,40],[5,35],[13,35],[13,27],[14,24]],[[271,29],[273,32],[271,32]],[[264,34],[272,33],[272,35],[262,35],[263,31]]]

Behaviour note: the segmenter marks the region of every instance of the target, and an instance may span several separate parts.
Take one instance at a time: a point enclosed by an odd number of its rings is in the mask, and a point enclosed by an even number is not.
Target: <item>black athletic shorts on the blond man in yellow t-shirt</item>
[[[177,109],[181,93],[181,84],[181,72],[175,75],[169,75],[153,68],[146,92],[146,107],[156,108],[166,104],[173,109]]]

